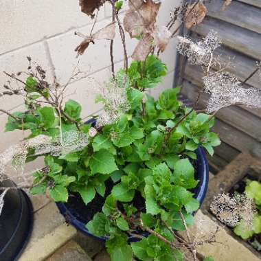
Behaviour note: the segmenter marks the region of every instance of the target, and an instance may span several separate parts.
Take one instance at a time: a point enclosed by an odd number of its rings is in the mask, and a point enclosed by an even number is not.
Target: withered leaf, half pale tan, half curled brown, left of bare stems
[[[82,38],[85,38],[80,45],[78,45],[75,51],[78,55],[84,54],[85,50],[89,47],[90,43],[94,43],[95,40],[113,40],[115,38],[115,23],[110,23],[106,25],[104,28],[95,32],[90,36],[84,36],[84,34],[80,34],[76,32],[76,34]]]

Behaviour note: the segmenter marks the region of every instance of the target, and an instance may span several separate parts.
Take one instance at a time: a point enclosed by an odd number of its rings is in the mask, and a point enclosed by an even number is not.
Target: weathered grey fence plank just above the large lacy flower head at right
[[[196,41],[200,40],[196,34],[192,34],[192,38]],[[250,73],[256,69],[256,60],[225,46],[216,49],[214,56],[218,57],[218,60],[223,67],[229,65],[227,66],[227,71],[235,74],[238,80],[241,81],[244,81]],[[218,66],[214,67],[214,69],[218,69]],[[252,78],[250,78],[247,81],[247,84],[261,89],[259,73],[256,73]]]

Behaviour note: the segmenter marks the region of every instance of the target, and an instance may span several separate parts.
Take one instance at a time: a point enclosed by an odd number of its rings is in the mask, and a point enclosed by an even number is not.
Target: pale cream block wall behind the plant
[[[161,6],[159,24],[165,25],[180,0],[165,0]],[[125,3],[126,5],[126,3]],[[124,8],[126,10],[126,8]],[[122,16],[123,14],[121,14]],[[109,23],[111,10],[105,5],[99,12],[98,23],[95,30]],[[93,21],[89,16],[80,12],[77,0],[1,0],[0,1],[0,89],[7,78],[2,71],[10,73],[22,71],[27,68],[26,56],[47,69],[47,78],[54,76],[61,83],[66,82],[73,68],[78,67],[87,71],[89,78],[78,80],[69,85],[67,98],[78,100],[83,106],[83,117],[96,113],[102,109],[93,101],[93,88],[97,82],[102,83],[109,78],[110,57],[109,41],[97,41],[91,45],[80,60],[76,58],[74,49],[82,39],[74,35],[80,31],[88,34]],[[128,55],[131,55],[137,41],[127,36]],[[116,67],[122,66],[123,51],[120,37],[115,40]],[[155,89],[157,95],[162,88],[172,86],[175,41],[168,46],[162,55],[168,65],[168,76],[164,82]],[[95,80],[93,80],[95,79]],[[97,82],[96,82],[97,81]],[[23,109],[23,98],[0,98],[0,108],[10,112]],[[0,150],[10,144],[23,139],[25,133],[15,131],[4,133],[6,115],[0,114]]]

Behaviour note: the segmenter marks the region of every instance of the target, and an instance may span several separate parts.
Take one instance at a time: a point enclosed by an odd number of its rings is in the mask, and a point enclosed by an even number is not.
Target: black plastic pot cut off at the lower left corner
[[[12,181],[1,186],[13,187]],[[30,198],[23,190],[8,190],[0,215],[0,260],[18,260],[30,238],[33,225],[33,210]]]

